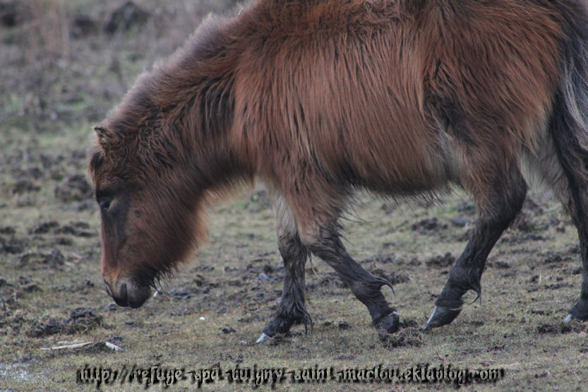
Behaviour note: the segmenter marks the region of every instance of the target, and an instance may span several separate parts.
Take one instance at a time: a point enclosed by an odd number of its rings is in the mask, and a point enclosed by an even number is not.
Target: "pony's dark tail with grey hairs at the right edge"
[[[560,5],[565,41],[560,47],[563,63],[555,102],[553,102],[551,131],[556,140],[563,138],[569,147],[575,145],[572,150],[582,156],[586,165],[588,164],[588,4],[583,0],[558,1],[558,3],[565,3]],[[560,152],[563,153],[563,151]]]

